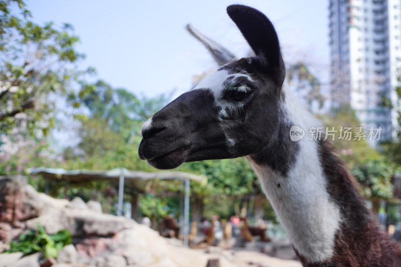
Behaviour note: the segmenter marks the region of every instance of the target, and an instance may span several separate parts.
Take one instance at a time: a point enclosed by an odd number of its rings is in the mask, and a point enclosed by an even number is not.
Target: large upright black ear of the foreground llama
[[[229,6],[227,13],[258,58],[269,66],[284,66],[276,30],[263,13],[243,5]]]

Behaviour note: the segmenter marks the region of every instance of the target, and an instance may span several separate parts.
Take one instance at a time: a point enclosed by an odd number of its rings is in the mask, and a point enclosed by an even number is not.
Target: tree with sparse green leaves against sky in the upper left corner
[[[20,15],[12,14],[15,5]],[[42,130],[47,135],[55,126],[55,94],[68,96],[78,107],[80,95],[93,89],[83,80],[92,68],[82,71],[77,62],[84,58],[75,47],[79,41],[73,27],[64,24],[58,30],[53,23],[33,22],[22,0],[0,0],[0,134],[16,127],[30,133]],[[74,84],[74,82],[76,84]]]

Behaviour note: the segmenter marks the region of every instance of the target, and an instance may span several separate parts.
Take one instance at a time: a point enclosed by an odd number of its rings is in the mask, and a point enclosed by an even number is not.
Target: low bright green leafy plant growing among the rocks
[[[6,253],[23,252],[29,255],[39,251],[45,253],[45,257],[56,258],[58,251],[65,245],[72,243],[71,233],[68,230],[60,230],[56,234],[47,234],[42,225],[38,223],[38,230],[29,230],[21,234],[17,241],[10,242],[10,249]]]

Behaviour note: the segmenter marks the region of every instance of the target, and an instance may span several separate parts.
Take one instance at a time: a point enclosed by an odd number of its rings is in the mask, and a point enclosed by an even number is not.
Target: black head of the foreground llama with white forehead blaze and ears
[[[209,47],[218,63],[225,65],[142,127],[139,156],[156,168],[249,156],[273,169],[288,169],[283,160],[291,157],[279,151],[286,147],[286,153],[291,153],[287,150],[293,145],[282,103],[285,67],[276,31],[269,19],[253,8],[233,5],[227,13],[255,57],[233,62],[234,56],[222,56],[227,51]]]

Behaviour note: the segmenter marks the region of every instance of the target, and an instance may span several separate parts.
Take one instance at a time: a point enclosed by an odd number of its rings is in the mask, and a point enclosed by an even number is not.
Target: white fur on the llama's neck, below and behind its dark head
[[[295,102],[292,92],[286,91],[284,108],[289,119],[306,132],[310,126],[318,127],[320,123]],[[333,255],[340,209],[326,191],[317,142],[304,138],[298,144],[297,159],[287,177],[249,161],[294,247],[308,262],[319,262]]]

